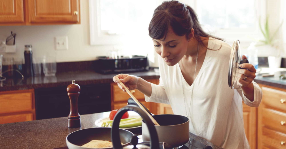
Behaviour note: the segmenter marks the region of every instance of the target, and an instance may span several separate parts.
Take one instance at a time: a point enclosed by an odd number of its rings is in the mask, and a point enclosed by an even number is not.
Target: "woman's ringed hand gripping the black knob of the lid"
[[[247,59],[246,56],[242,56],[242,60]],[[238,71],[238,80],[237,80],[237,85],[241,88],[248,87],[249,85],[252,85],[252,81],[255,78],[255,73],[256,69],[252,64],[249,63],[244,63],[239,65],[241,68],[245,69],[240,69]]]

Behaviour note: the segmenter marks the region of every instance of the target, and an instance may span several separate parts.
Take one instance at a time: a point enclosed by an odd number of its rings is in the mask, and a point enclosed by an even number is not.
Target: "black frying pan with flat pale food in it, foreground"
[[[130,144],[133,133],[124,129],[118,129],[118,131],[123,146]],[[110,134],[111,128],[86,128],[74,131],[67,135],[67,147],[69,149],[88,149],[81,146],[90,142],[91,140],[111,141]],[[112,149],[112,147],[104,149]]]

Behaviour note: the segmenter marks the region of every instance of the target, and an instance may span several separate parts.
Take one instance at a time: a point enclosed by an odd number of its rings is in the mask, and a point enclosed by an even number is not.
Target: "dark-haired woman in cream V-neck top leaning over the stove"
[[[170,104],[174,114],[187,116],[193,134],[225,149],[248,149],[242,101],[251,107],[261,102],[261,88],[253,81],[255,68],[242,64],[246,69],[239,70],[237,86],[230,89],[231,46],[205,33],[195,11],[178,1],[155,9],[149,35],[161,56],[159,85],[127,74],[117,77],[128,89],[145,94],[147,102]]]

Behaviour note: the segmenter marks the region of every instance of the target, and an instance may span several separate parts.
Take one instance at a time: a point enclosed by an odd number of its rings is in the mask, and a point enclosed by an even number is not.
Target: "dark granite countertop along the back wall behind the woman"
[[[130,75],[140,76],[143,79],[159,79],[159,73],[156,73],[154,69],[144,72],[127,73]],[[90,85],[97,83],[112,83],[113,76],[117,74],[100,74],[95,71],[81,71],[81,72],[60,72],[56,76],[38,76],[29,77],[25,79],[7,79],[1,81],[0,92],[10,90],[22,90],[22,89],[38,89],[48,87],[68,86],[71,84],[71,80],[75,80],[80,85]],[[274,77],[262,77],[257,75],[254,79],[256,83],[279,87],[286,89],[286,80],[279,79],[279,75]]]

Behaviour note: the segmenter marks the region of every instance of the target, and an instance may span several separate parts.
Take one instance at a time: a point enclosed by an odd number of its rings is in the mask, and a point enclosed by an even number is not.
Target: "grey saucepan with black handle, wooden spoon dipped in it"
[[[142,103],[141,103],[142,104]],[[128,105],[137,105],[128,100]],[[150,111],[146,109],[149,113]],[[172,147],[179,147],[189,141],[189,118],[182,115],[162,114],[152,116],[160,126],[156,126],[159,142],[166,142]],[[150,134],[145,121],[142,121],[142,139],[150,141]]]

